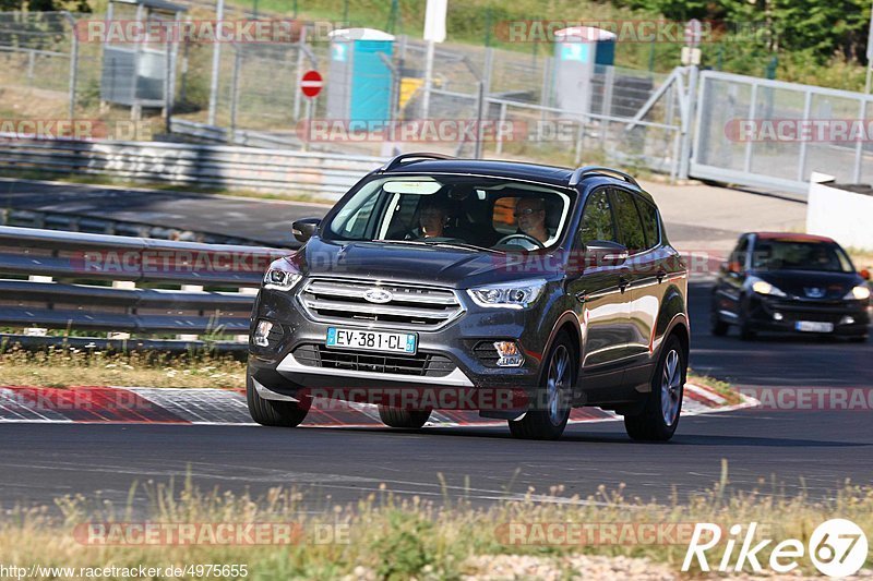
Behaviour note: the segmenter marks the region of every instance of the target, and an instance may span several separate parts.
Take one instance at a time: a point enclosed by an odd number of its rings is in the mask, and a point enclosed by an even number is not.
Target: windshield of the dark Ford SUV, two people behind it
[[[498,251],[550,249],[563,238],[573,195],[500,178],[392,175],[363,184],[323,234]]]

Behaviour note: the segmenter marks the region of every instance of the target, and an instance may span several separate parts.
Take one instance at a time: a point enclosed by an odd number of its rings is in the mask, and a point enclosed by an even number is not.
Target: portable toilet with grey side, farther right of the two
[[[615,34],[594,26],[574,26],[554,33],[554,87],[558,108],[591,112],[591,81],[615,62]]]

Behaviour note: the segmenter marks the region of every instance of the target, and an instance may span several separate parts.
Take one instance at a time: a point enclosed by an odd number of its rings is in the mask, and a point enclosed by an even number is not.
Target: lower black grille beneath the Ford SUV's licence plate
[[[455,370],[445,355],[417,353],[415,355],[391,355],[337,351],[323,344],[302,344],[294,350],[294,358],[301,365],[330,367],[356,372],[372,372],[393,375],[420,375],[445,377]]]

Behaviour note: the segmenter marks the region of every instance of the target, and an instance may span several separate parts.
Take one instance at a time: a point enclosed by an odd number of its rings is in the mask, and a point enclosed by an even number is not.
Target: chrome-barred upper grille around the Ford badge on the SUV
[[[371,289],[388,291],[385,303],[367,301]],[[464,308],[449,289],[411,285],[373,285],[362,280],[310,279],[299,293],[309,315],[323,323],[379,323],[403,329],[436,329],[455,319]]]

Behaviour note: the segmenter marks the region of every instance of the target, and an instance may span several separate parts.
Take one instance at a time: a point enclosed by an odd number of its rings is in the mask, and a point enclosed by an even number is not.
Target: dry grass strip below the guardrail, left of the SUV
[[[0,385],[232,387],[246,386],[246,364],[202,353],[106,353],[74,348],[0,353]]]

